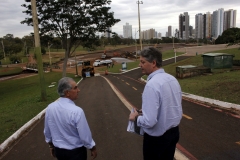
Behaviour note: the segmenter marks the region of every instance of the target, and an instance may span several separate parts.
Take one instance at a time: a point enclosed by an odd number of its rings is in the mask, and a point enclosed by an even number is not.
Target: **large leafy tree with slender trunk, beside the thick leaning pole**
[[[25,0],[30,2],[30,0]],[[41,35],[60,37],[65,49],[63,76],[66,75],[68,57],[81,44],[90,48],[97,40],[96,33],[105,32],[119,19],[110,12],[111,0],[38,0],[38,22]],[[31,16],[31,5],[23,4],[24,11]],[[25,18],[22,24],[32,24]],[[111,31],[109,31],[112,33]]]

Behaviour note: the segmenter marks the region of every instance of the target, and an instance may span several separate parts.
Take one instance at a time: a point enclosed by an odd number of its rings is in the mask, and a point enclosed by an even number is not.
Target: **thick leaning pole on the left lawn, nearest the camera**
[[[31,0],[32,6],[32,19],[33,19],[33,28],[34,28],[34,38],[35,38],[35,53],[37,55],[37,65],[38,65],[38,75],[39,82],[41,88],[41,100],[47,100],[46,94],[46,85],[43,73],[43,63],[42,63],[42,53],[41,53],[41,45],[40,45],[40,37],[39,37],[39,29],[38,29],[38,17],[37,17],[37,7],[36,0]]]

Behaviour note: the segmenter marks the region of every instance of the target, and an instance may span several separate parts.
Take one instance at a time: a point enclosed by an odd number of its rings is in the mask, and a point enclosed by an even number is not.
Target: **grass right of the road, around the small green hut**
[[[226,49],[211,53],[234,54],[234,59],[240,59],[240,51],[236,49]],[[201,55],[164,66],[167,73],[176,75],[176,67],[182,65],[202,65]],[[240,70],[214,69],[212,75],[196,76],[179,79],[183,92],[217,99],[225,102],[240,104]]]

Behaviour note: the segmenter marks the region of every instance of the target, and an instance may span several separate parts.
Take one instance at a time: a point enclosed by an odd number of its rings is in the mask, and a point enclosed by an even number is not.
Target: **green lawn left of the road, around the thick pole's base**
[[[76,81],[80,79],[72,74],[67,74],[67,76]],[[40,101],[41,90],[38,75],[0,82],[0,143],[59,97],[57,87],[49,88],[48,86],[52,82],[58,82],[62,73],[45,73],[44,77],[47,91],[45,102]]]

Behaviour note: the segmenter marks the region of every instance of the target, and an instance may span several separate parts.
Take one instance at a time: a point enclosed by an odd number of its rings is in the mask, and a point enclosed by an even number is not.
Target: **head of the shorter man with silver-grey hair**
[[[77,83],[72,78],[64,77],[58,81],[58,94],[60,97],[76,100],[79,91]]]

